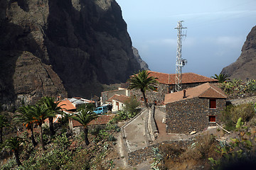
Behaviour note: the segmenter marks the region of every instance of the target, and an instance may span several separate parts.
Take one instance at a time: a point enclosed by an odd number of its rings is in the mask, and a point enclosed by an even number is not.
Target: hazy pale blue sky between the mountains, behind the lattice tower
[[[132,44],[156,72],[175,73],[177,26],[186,38],[182,72],[207,77],[238,59],[246,36],[256,25],[256,0],[116,0]]]

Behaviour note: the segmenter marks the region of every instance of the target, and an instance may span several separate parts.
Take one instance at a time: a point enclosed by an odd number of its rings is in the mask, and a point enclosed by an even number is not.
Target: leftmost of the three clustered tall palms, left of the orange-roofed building
[[[33,143],[33,146],[36,147],[37,142],[35,140],[35,137],[33,135],[33,113],[31,111],[31,106],[21,106],[18,108],[17,111],[19,114],[14,115],[14,120],[16,120],[19,123],[23,123],[23,125],[26,126],[27,130],[31,130],[31,140]]]

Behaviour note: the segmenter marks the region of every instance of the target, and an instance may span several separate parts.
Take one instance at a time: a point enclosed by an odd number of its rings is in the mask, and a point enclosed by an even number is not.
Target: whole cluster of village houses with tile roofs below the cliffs
[[[214,85],[218,80],[195,73],[183,73],[183,91],[174,92],[175,74],[149,71],[149,76],[156,77],[159,84],[156,85],[156,91],[146,91],[146,100],[151,105],[166,108],[167,133],[202,131],[219,123],[220,111],[225,109],[227,96]],[[65,113],[75,113],[76,108],[85,103],[93,103],[95,107],[97,105],[111,105],[112,111],[110,113],[99,115],[99,118],[89,123],[90,127],[105,125],[114,118],[113,113],[117,113],[117,111],[124,108],[126,101],[131,96],[136,97],[143,106],[141,91],[129,90],[127,89],[128,86],[127,83],[119,89],[103,91],[100,101],[74,97],[60,101],[59,106]],[[72,119],[69,120],[69,125],[74,134],[78,134],[82,127],[80,123]]]

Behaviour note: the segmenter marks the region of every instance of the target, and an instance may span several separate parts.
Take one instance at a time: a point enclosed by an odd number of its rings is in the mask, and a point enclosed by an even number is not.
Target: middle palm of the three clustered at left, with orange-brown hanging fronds
[[[31,106],[31,112],[33,113],[33,121],[36,123],[36,125],[40,128],[40,140],[41,140],[41,146],[43,150],[45,150],[44,143],[43,143],[43,129],[42,125],[46,118],[52,117],[53,113],[51,113],[46,106]]]

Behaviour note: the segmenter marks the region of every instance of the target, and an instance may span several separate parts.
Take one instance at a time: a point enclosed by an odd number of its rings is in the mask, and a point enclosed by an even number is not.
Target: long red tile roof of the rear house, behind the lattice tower
[[[157,77],[157,81],[161,84],[175,84],[176,74],[167,74],[161,72],[153,72],[148,71],[149,76]],[[191,83],[203,83],[203,82],[214,82],[218,81],[217,79],[211,79],[209,77],[204,77],[202,75],[196,73],[183,73],[182,77],[182,84],[191,84]]]

